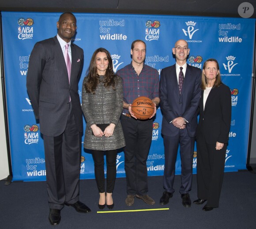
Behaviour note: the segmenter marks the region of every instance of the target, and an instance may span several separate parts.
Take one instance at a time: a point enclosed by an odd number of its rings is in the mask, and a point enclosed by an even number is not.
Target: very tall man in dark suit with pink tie
[[[64,205],[78,212],[90,209],[79,201],[79,170],[83,116],[78,81],[83,50],[71,43],[76,31],[72,13],[60,15],[57,36],[35,44],[26,87],[45,146],[49,221],[60,222]]]

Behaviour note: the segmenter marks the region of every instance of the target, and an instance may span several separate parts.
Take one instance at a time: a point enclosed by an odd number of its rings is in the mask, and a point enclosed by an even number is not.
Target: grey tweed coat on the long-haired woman
[[[101,76],[103,80],[104,76]],[[82,90],[82,110],[87,122],[83,147],[94,150],[113,150],[125,146],[124,133],[120,124],[120,115],[123,110],[123,80],[116,76],[115,88],[104,87],[100,82],[95,90],[95,94],[87,93],[84,84],[88,77],[83,80]],[[115,124],[113,135],[109,138],[95,137],[90,128],[93,124]]]

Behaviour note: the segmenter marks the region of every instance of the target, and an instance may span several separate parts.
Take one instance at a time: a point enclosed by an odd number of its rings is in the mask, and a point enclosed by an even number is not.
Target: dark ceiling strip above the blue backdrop
[[[241,17],[238,7],[256,0],[0,0],[0,11],[125,13]],[[250,18],[256,18],[256,11]]]

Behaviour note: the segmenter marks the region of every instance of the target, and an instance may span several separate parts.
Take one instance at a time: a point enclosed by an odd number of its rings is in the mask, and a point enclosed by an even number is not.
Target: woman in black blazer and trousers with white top
[[[194,204],[218,207],[231,122],[230,88],[222,83],[217,60],[203,64],[197,127],[197,196]]]

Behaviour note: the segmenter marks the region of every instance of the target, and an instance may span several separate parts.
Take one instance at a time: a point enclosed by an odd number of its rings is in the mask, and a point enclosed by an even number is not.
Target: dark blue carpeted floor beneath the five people
[[[175,178],[174,188],[179,189],[181,176]],[[60,225],[48,221],[49,207],[45,182],[0,181],[0,229],[252,229],[256,228],[256,174],[248,171],[225,173],[218,208],[209,212],[203,206],[192,204],[185,208],[177,192],[169,204],[162,206],[162,177],[149,177],[149,195],[156,201],[150,206],[136,199],[126,206],[125,178],[117,178],[113,211],[155,210],[98,213],[98,192],[95,180],[81,180],[80,200],[92,212],[83,214],[72,207],[61,211]],[[196,175],[193,175],[191,200],[196,200]],[[156,210],[169,208],[168,210]],[[103,211],[108,211],[107,208]]]

